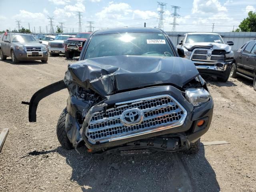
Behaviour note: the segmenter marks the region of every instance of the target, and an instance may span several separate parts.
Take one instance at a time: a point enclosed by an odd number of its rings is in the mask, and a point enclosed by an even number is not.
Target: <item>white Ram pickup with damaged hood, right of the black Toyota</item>
[[[234,52],[232,41],[224,44],[223,39],[217,33],[186,33],[177,45],[183,48],[185,57],[196,65],[202,75],[216,76],[218,81],[228,80]]]

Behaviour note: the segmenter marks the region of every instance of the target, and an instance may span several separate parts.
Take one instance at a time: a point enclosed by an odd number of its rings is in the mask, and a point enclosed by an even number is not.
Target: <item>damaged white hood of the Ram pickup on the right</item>
[[[222,43],[212,43],[212,42],[199,42],[199,43],[185,43],[184,47],[186,49],[194,50],[195,48],[212,48],[217,50],[225,50],[226,52],[231,51],[231,46],[228,44],[222,44]]]

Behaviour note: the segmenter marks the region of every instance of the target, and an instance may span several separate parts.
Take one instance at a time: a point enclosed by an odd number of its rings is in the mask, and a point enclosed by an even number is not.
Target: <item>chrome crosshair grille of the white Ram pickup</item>
[[[190,60],[207,61],[207,62],[224,62],[225,56],[223,55],[212,55],[212,49],[194,49],[190,56]],[[210,54],[210,56],[208,55]]]

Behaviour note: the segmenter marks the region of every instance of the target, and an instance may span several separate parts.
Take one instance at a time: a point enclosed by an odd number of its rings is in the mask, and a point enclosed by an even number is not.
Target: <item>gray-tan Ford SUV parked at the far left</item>
[[[40,44],[34,36],[23,33],[3,33],[0,38],[0,57],[6,60],[11,56],[13,63],[22,60],[41,60],[47,62],[48,53],[45,45]]]

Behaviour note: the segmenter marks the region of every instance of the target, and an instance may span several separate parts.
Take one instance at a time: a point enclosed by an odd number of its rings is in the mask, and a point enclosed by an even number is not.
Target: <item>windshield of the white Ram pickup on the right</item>
[[[188,34],[186,43],[198,42],[223,43],[222,38],[217,34]]]

